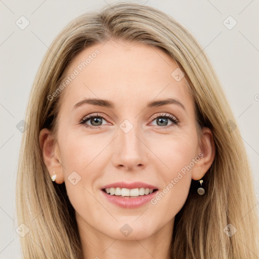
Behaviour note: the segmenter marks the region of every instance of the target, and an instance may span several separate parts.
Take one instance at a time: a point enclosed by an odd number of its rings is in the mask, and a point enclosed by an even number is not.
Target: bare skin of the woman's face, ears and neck
[[[169,258],[175,215],[186,201],[191,180],[201,179],[213,162],[212,133],[204,127],[199,143],[187,81],[171,76],[176,62],[156,47],[109,40],[79,53],[67,74],[96,49],[100,54],[63,93],[57,136],[47,128],[40,132],[44,161],[50,176],[56,172],[56,183],[65,182],[85,259]],[[179,100],[185,110],[177,104],[146,107],[168,97]],[[85,98],[109,100],[115,108],[84,104],[73,109]],[[97,112],[107,118],[100,126],[79,124]],[[174,115],[180,123],[152,119],[160,113]],[[128,133],[119,127],[125,119],[133,125]],[[103,185],[119,181],[145,182],[162,191],[199,153],[203,157],[155,205],[121,208],[101,193]],[[76,185],[68,180],[73,171],[81,177]],[[120,232],[124,224],[133,230],[127,237]]]

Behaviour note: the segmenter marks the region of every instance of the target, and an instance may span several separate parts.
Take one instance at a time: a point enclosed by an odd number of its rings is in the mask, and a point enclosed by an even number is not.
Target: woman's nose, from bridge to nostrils
[[[118,137],[113,144],[115,152],[112,162],[117,168],[123,168],[126,171],[141,170],[148,162],[148,148],[144,144],[143,135],[137,130],[137,126],[132,126],[129,132],[124,131],[123,127],[121,127],[122,130],[119,128]]]

